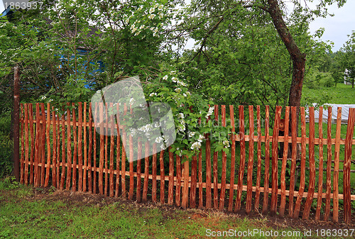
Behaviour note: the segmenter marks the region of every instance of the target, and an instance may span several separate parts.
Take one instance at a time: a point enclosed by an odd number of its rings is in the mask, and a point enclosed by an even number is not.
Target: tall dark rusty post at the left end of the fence
[[[20,181],[20,89],[18,85],[18,66],[13,77],[13,174]]]

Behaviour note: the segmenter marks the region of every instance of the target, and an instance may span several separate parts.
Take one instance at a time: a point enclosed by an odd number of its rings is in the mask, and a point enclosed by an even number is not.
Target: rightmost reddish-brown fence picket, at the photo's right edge
[[[351,223],[351,140],[354,135],[355,109],[349,110],[348,128],[345,138],[344,174],[343,174],[343,194],[344,194],[344,221]]]

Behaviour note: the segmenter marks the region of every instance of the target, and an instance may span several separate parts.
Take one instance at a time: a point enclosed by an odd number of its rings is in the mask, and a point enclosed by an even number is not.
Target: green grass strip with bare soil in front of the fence
[[[217,236],[218,232],[228,231],[238,235],[248,230],[258,233],[244,238],[270,238],[266,235],[271,231],[272,238],[303,238],[309,230],[315,236],[316,229],[344,229],[340,224],[315,224],[256,212],[246,217],[136,204],[53,188],[34,189],[9,183],[9,179],[0,181],[0,193],[0,238],[216,238],[214,233]]]

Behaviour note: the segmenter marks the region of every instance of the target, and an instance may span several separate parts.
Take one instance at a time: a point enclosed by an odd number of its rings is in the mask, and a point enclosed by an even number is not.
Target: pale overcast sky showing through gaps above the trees
[[[314,34],[316,30],[325,28],[321,40],[332,41],[334,43],[332,50],[335,52],[342,48],[346,40],[349,39],[347,35],[351,35],[352,30],[355,30],[355,1],[347,0],[346,4],[340,9],[336,5],[329,6],[328,10],[330,13],[334,13],[334,16],[316,18],[315,21],[310,23],[310,33]],[[4,4],[0,4],[0,13],[2,11],[4,11]],[[190,41],[188,45],[192,47],[193,41]]]

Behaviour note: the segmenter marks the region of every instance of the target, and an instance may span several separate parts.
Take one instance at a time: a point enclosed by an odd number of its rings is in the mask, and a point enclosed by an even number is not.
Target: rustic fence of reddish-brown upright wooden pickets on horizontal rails
[[[309,126],[305,121],[305,108],[300,109],[301,137],[297,137],[295,130],[295,107],[285,107],[285,118],[281,119],[282,107],[276,106],[271,129],[269,107],[266,106],[263,132],[260,106],[256,107],[256,112],[249,106],[248,111],[249,119],[246,119],[244,106],[239,106],[239,133],[235,134],[234,106],[229,106],[229,116],[226,106],[214,106],[213,120],[226,126],[226,117],[229,117],[231,123],[231,148],[228,154],[222,152],[222,157],[221,152],[211,152],[210,135],[206,134],[203,150],[190,160],[168,150],[149,157],[152,149],[148,144],[138,143],[138,152],[145,147],[146,157],[126,165],[126,149],[121,145],[120,135],[96,133],[91,104],[75,104],[75,108],[67,109],[65,116],[60,117],[50,104],[21,104],[21,182],[35,187],[53,185],[58,189],[128,196],[138,202],[157,202],[160,195],[161,204],[175,204],[184,209],[245,209],[246,213],[260,210],[262,213],[278,212],[280,216],[288,211],[294,218],[301,216],[301,211],[302,218],[309,218],[310,213],[315,212],[316,220],[327,221],[332,216],[336,222],[341,201],[344,221],[350,223],[351,200],[355,200],[355,195],[351,195],[354,185],[350,185],[350,174],[354,172],[351,170],[351,162],[354,163],[351,148],[355,145],[355,109],[349,111],[345,139],[341,138],[341,108],[338,108],[335,138],[332,138],[331,109],[327,135],[323,135],[320,120],[318,138],[315,138],[312,107]],[[320,116],[322,111],[321,107]],[[249,124],[249,135],[246,135],[246,124]],[[117,128],[117,125],[111,127]],[[309,128],[308,136],[306,127]],[[280,148],[285,142],[289,147]],[[315,145],[318,145],[318,152],[315,152]],[[345,150],[344,160],[339,157],[341,147]],[[279,154],[280,149],[283,152]],[[289,150],[291,157],[288,157]],[[300,158],[297,158],[297,151]],[[160,174],[157,174],[158,169]],[[339,187],[342,187],[342,194]]]

